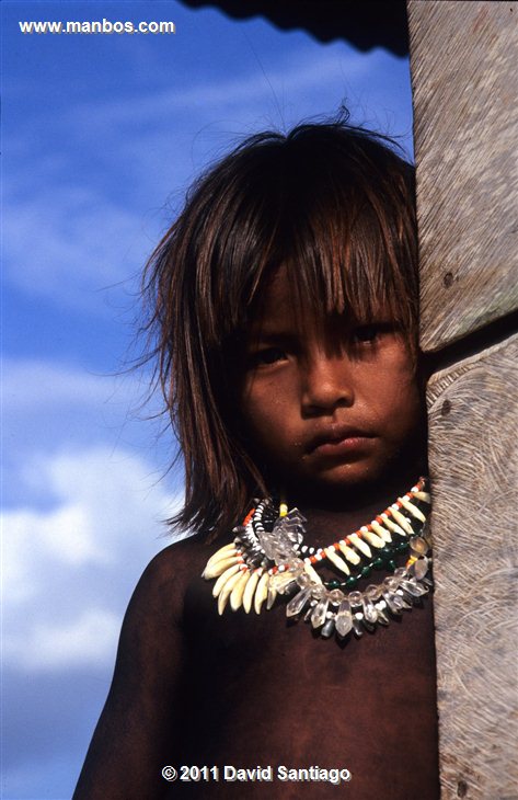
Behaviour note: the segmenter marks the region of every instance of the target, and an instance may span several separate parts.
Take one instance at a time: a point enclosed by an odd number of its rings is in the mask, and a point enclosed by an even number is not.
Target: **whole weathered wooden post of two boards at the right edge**
[[[516,800],[518,3],[407,7],[441,797]]]

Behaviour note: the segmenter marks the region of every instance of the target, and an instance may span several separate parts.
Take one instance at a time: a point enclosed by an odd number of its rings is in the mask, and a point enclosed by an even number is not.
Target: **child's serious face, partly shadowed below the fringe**
[[[423,419],[407,342],[382,316],[319,328],[301,311],[280,270],[246,343],[240,407],[255,450],[284,485],[311,492],[395,477]]]

